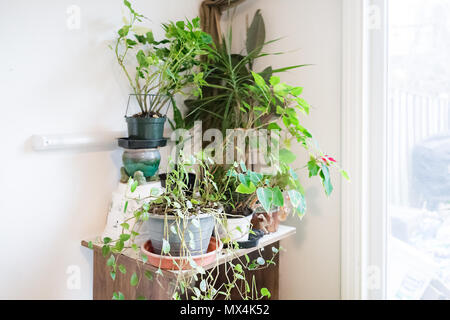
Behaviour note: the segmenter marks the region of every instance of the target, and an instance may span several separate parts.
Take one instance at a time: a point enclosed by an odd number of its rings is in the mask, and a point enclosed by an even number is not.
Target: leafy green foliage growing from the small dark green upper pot
[[[118,31],[114,52],[136,96],[139,116],[162,116],[162,109],[175,94],[185,94],[188,86],[200,95],[203,73],[197,66],[199,56],[208,54],[211,36],[200,29],[199,18],[162,25],[165,38],[156,40],[150,29],[139,26],[146,19],[124,0],[129,16]],[[132,57],[130,57],[132,55]],[[147,99],[153,94],[155,99]],[[175,117],[180,112],[174,106]]]

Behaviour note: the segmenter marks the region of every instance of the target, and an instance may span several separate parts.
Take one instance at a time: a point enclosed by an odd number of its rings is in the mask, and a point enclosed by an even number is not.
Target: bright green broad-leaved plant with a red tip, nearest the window
[[[333,191],[330,167],[337,168],[346,179],[348,174],[337,165],[333,157],[322,153],[311,133],[301,125],[298,112],[308,115],[310,109],[308,103],[301,98],[303,88],[282,83],[277,76],[271,76],[266,81],[260,74],[252,72],[252,75],[254,84],[246,85],[251,93],[252,104],[245,104],[246,108],[241,110],[242,113],[250,114],[249,118],[253,119],[249,128],[275,130],[280,138],[284,129],[288,132],[288,137],[271,141],[269,145],[269,149],[275,147],[274,144],[277,144],[277,149],[280,145],[282,147],[279,152],[269,152],[266,159],[275,169],[274,173],[263,176],[241,165],[230,169],[229,174],[238,177],[240,184],[236,191],[249,195],[246,200],[248,205],[259,201],[264,210],[269,212],[273,207],[283,207],[287,199],[294,212],[303,216],[306,201],[299,176],[291,167],[296,160],[295,154],[290,150],[291,140],[294,139],[309,152],[310,159],[305,168],[309,171],[309,177],[320,177],[326,195]]]

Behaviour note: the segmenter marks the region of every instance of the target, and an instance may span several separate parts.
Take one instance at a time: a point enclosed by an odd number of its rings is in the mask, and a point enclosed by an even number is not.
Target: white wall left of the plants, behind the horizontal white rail
[[[193,18],[199,0],[134,0],[155,29]],[[66,9],[81,8],[81,29]],[[119,150],[36,153],[33,134],[124,130],[128,86],[109,40],[121,26],[120,0],[0,1],[0,298],[92,297],[92,253],[118,181]],[[81,268],[81,289],[66,270]]]

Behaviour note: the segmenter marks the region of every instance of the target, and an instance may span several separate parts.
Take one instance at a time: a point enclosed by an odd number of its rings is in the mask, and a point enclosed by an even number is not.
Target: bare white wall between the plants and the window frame
[[[283,37],[266,51],[286,54],[264,58],[256,65],[257,71],[267,65],[314,64],[284,73],[281,78],[304,87],[304,97],[312,109],[302,121],[322,150],[337,159],[341,147],[341,6],[339,0],[248,0],[233,23],[233,37],[242,40],[234,44],[236,49],[245,47],[245,28],[240,24],[245,24],[246,14],[250,23],[258,8],[266,24],[266,40]],[[308,160],[300,147],[298,150],[296,164],[300,168]],[[280,297],[339,299],[340,178],[332,176],[335,191],[330,198],[324,195],[318,179],[309,180],[306,172],[303,178],[308,213],[301,222],[298,218],[288,222],[297,227],[297,234],[281,243],[287,251],[281,256]]]

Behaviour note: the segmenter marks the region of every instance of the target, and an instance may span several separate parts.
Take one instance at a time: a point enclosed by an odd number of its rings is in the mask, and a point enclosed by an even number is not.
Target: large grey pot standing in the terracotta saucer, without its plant
[[[166,239],[170,244],[169,254],[172,256],[205,254],[214,228],[214,217],[209,214],[199,214],[183,218],[185,221],[181,221],[181,230],[179,231],[176,219],[175,216],[152,214],[146,221],[145,229],[149,240],[152,242],[154,253],[163,253],[163,239]],[[167,226],[165,223],[167,223]],[[176,233],[172,230],[175,230]],[[182,246],[182,237],[184,237],[187,248]],[[189,252],[185,252],[187,250]]]

